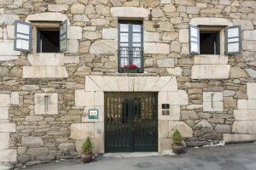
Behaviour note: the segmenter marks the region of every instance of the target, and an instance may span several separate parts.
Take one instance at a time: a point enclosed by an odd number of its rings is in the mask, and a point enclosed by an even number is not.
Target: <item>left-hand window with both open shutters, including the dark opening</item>
[[[34,53],[67,51],[67,20],[63,22],[15,21],[15,50]]]

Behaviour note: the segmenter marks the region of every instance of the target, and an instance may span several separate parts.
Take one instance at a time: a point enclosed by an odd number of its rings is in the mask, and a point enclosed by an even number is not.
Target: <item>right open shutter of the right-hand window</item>
[[[225,28],[225,54],[241,54],[241,26]]]

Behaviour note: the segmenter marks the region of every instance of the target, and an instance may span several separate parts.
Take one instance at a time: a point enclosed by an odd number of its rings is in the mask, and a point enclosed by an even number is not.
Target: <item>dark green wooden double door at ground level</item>
[[[157,94],[105,94],[105,151],[157,151]]]

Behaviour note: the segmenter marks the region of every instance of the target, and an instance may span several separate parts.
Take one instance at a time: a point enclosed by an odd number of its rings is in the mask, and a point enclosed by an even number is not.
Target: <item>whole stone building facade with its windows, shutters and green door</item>
[[[256,140],[256,1],[0,0],[0,169]]]

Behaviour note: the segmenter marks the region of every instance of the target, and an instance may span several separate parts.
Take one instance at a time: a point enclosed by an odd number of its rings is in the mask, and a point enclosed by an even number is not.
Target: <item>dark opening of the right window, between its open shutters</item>
[[[219,32],[200,31],[200,54],[219,54]]]

